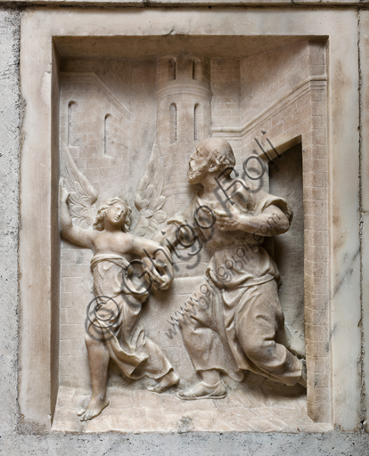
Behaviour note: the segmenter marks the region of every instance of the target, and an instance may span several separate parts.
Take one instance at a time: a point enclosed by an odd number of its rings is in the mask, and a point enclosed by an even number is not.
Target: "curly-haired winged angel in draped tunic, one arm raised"
[[[109,405],[106,381],[110,358],[130,379],[146,376],[158,380],[149,388],[156,393],[178,383],[168,359],[159,346],[146,338],[139,321],[142,304],[149,295],[147,289],[142,285],[137,288],[129,277],[125,279],[132,271],[127,260],[131,254],[151,256],[156,267],[147,269],[146,273],[160,289],[168,289],[173,281],[173,266],[168,248],[142,239],[156,232],[167,218],[161,210],[165,197],[161,196],[163,178],[156,145],[137,189],[135,207],[140,215],[132,232],[128,232],[131,208],[122,199],[108,199],[94,216],[97,192],[78,170],[66,147],[61,172],[64,176],[60,191],[61,236],[78,247],[91,248],[94,253],[91,270],[96,305],[94,320],[90,320],[86,332],[93,394],[86,409],[78,413],[81,420],[87,420]],[[94,229],[86,229],[92,224]]]

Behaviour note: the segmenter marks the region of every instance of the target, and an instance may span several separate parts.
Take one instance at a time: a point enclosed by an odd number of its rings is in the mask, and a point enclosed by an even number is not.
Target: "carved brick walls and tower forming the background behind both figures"
[[[277,263],[287,256],[280,294],[286,322],[301,337],[305,302],[307,411],[311,418],[329,422],[325,52],[324,40],[306,40],[233,59],[211,55],[200,58],[188,53],[142,60],[63,59],[60,136],[61,145],[69,145],[76,165],[99,192],[98,204],[122,195],[133,205],[135,188],[152,143],[158,142],[164,163],[165,209],[169,216],[184,208],[193,195],[186,171],[189,156],[201,139],[217,135],[231,142],[237,171],[241,174],[243,161],[258,149],[255,138],[270,150],[267,137],[279,153],[300,144],[294,153],[302,154],[302,175],[301,170],[298,173],[291,168],[291,173],[296,175],[287,172],[283,182],[275,178],[275,185],[279,185],[280,192],[286,192],[283,196],[289,200],[295,191],[294,179],[296,182],[302,179],[299,186],[303,189],[303,194],[294,200],[299,208],[292,205],[295,220],[299,213],[299,227],[295,227],[295,222],[291,232],[276,240],[282,245]],[[271,154],[275,156],[273,151]],[[283,165],[275,160],[276,168],[287,166],[288,159]],[[268,190],[267,176],[260,184]],[[134,212],[134,219],[135,216]],[[287,247],[283,250],[283,244],[289,238],[291,245],[286,254]],[[291,258],[295,250],[297,256],[303,256],[305,250],[305,264],[299,262],[298,268]],[[70,394],[78,396],[77,392],[71,393],[73,388],[83,391],[90,385],[84,334],[86,305],[94,296],[91,256],[89,250],[62,242],[59,376],[60,387],[71,389],[65,390],[64,396],[60,393],[58,410],[68,406]],[[191,261],[176,256],[175,261],[179,270],[172,288],[150,297],[144,306],[143,322],[148,336],[163,348],[184,387],[195,381],[196,376],[182,338],[169,322],[174,322],[173,315],[178,318],[176,312],[201,281],[209,255],[203,248],[201,255]],[[133,383],[111,364],[111,387],[131,391],[144,389],[148,384],[150,381],[145,380]],[[275,387],[276,394],[278,389],[281,388]],[[143,392],[144,403],[156,401],[150,394],[146,395]],[[78,402],[76,398],[74,402]],[[135,402],[140,407],[140,400]],[[178,406],[174,405],[174,409]],[[63,419],[65,415],[58,412],[57,428],[62,428]],[[218,426],[221,430],[222,426]],[[255,426],[258,428],[254,423]],[[270,426],[273,429],[273,421]],[[99,425],[88,426],[90,430],[93,428]]]

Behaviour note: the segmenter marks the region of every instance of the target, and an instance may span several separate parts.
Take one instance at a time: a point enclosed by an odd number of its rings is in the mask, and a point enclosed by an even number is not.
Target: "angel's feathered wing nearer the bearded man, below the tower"
[[[163,182],[159,149],[153,144],[152,155],[135,194],[135,207],[140,211],[132,231],[136,236],[151,238],[160,224],[167,220],[167,213],[161,210],[165,203],[165,196],[161,195]]]

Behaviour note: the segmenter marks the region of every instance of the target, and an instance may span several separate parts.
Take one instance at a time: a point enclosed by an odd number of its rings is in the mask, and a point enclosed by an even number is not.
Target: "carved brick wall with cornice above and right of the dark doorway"
[[[217,83],[216,79],[213,86],[217,91],[217,97],[213,105],[222,96],[228,103],[215,104],[213,132],[236,145],[239,154],[238,171],[244,175],[242,163],[250,155],[264,157],[261,162],[272,158],[277,160],[275,151],[271,150],[266,138],[272,144],[282,144],[293,138],[299,138],[298,142],[302,143],[305,340],[309,385],[307,404],[312,418],[329,421],[332,391],[328,302],[325,44],[305,42],[270,53],[252,55],[241,62],[222,63],[222,66],[213,66],[214,73],[216,77],[222,73],[226,75],[227,84],[222,86],[223,90],[219,90],[220,83]],[[237,64],[241,85],[238,81],[232,85],[232,81],[235,80],[232,75],[237,75],[237,70],[234,69]],[[237,101],[241,108],[240,118],[232,116],[232,112],[237,112],[237,105],[234,105]],[[222,113],[224,120],[220,124]],[[264,155],[258,143],[264,151],[269,150],[268,157]],[[241,146],[241,154],[237,145],[239,148]],[[261,171],[260,165],[255,159],[249,163],[247,167],[250,169],[250,175],[258,175]],[[256,181],[247,180],[253,182],[257,188],[268,189],[267,172]]]

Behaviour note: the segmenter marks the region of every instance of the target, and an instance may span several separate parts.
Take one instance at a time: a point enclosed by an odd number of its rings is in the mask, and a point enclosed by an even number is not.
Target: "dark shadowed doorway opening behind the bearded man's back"
[[[281,273],[279,297],[285,322],[304,334],[304,208],[301,144],[269,165],[270,193],[287,199],[293,211],[291,228],[273,241],[272,256]]]

